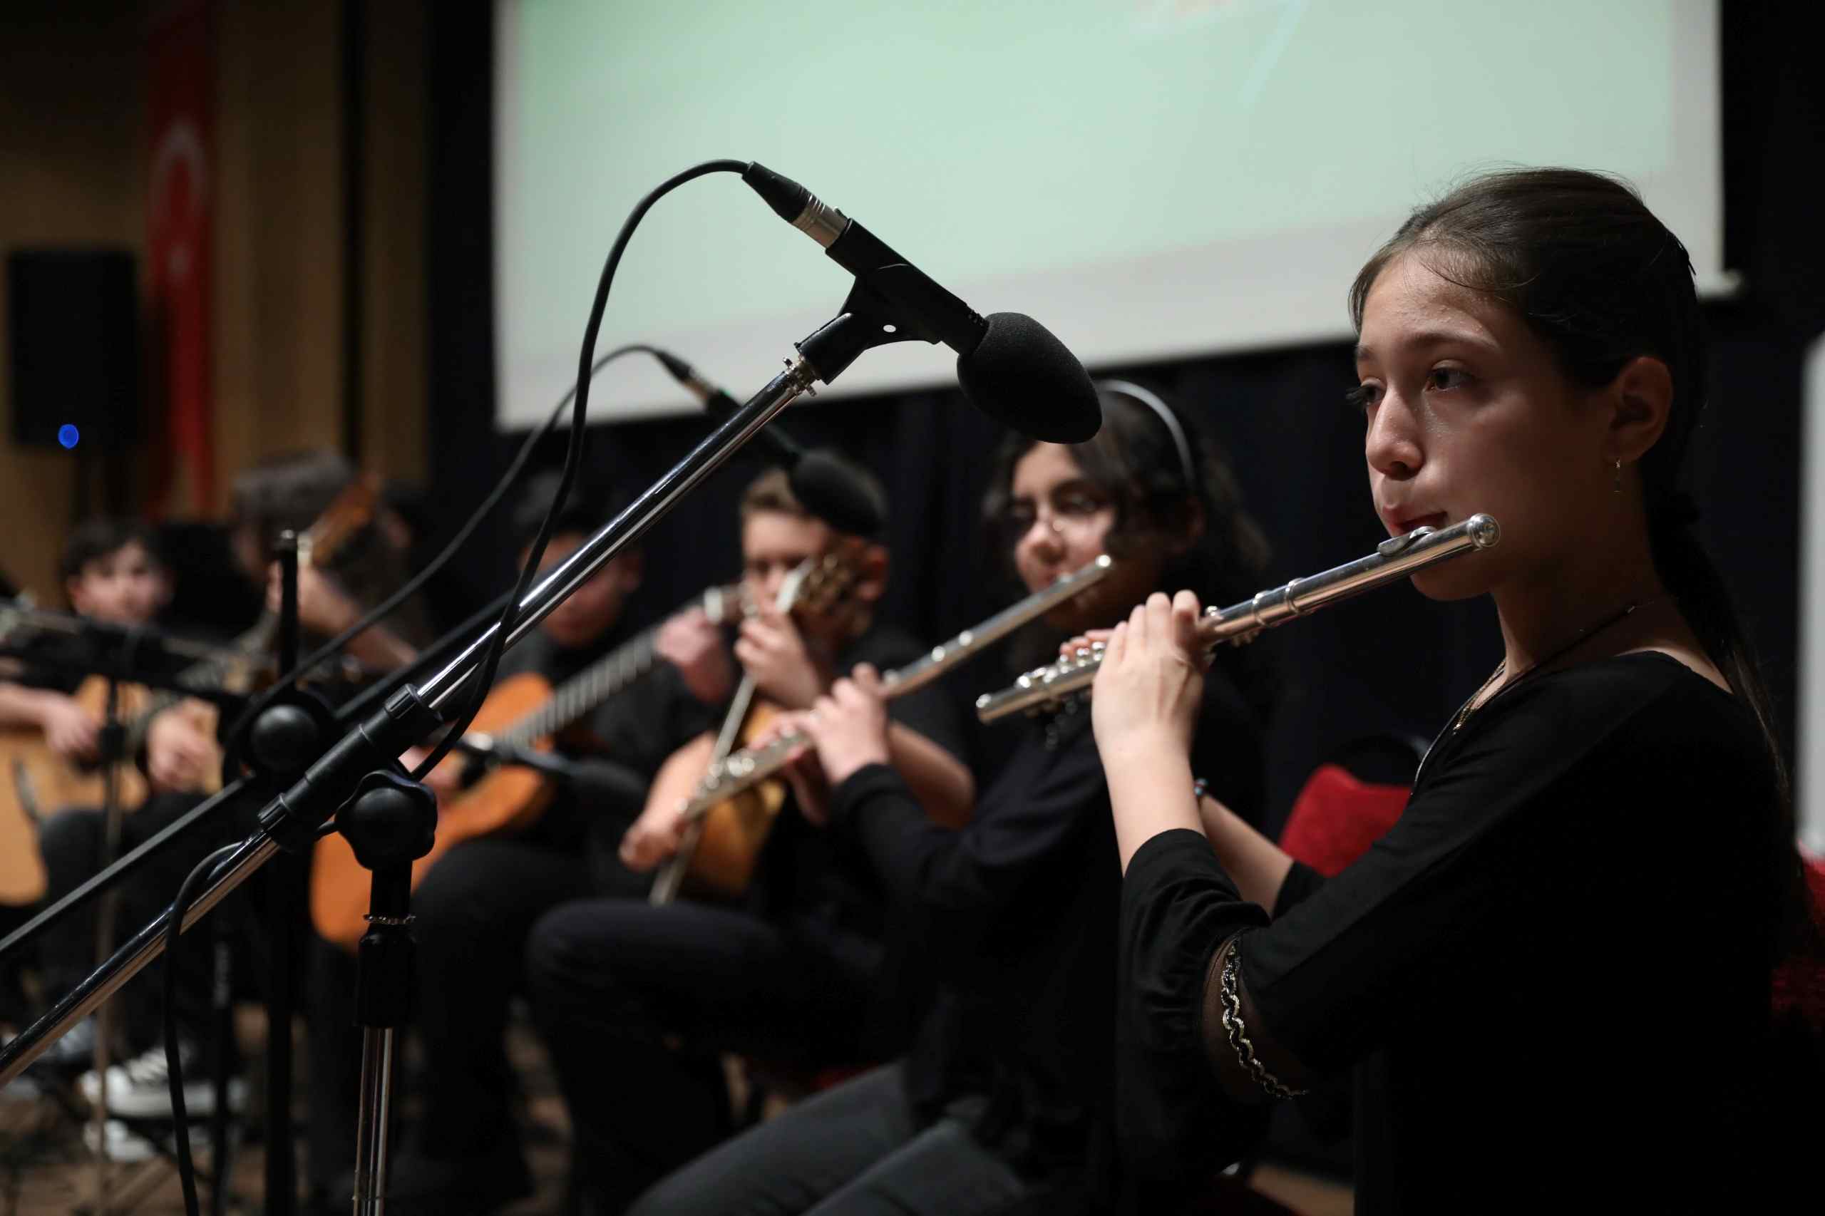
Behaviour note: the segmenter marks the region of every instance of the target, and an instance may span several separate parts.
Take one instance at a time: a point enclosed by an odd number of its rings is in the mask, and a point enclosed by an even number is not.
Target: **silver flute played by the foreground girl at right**
[[[1369,557],[1309,579],[1294,579],[1287,586],[1261,592],[1230,608],[1206,608],[1197,623],[1197,635],[1208,648],[1219,643],[1241,645],[1283,621],[1329,608],[1341,599],[1405,579],[1416,570],[1473,550],[1493,548],[1500,539],[1502,526],[1489,515],[1471,515],[1451,528],[1414,528],[1405,535],[1389,537]],[[1020,710],[1053,708],[1073,692],[1088,692],[1099,666],[1102,666],[1102,643],[1035,668],[1000,692],[982,694],[976,697],[976,718],[996,721]]]

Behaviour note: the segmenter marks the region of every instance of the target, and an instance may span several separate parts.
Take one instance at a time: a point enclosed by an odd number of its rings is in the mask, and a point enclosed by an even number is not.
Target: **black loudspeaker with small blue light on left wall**
[[[120,248],[16,248],[5,259],[13,442],[139,438],[139,298]]]

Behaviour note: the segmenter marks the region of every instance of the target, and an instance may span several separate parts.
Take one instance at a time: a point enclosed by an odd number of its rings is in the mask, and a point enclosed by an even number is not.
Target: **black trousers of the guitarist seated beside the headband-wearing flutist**
[[[527,942],[533,1015],[602,1212],[728,1136],[719,1054],[854,1063],[872,971],[812,933],[703,904],[588,900]]]

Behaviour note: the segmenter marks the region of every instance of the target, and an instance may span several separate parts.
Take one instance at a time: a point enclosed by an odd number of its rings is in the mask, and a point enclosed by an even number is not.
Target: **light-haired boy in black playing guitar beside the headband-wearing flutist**
[[[872,478],[865,484],[883,498]],[[757,604],[772,604],[788,571],[832,550],[850,551],[861,571],[852,595],[830,610],[787,615],[766,606],[743,624],[735,655],[772,705],[814,703],[858,661],[898,666],[923,654],[874,619],[885,550],[807,515],[783,473],[748,487],[741,550],[743,582]],[[958,760],[962,727],[949,696],[929,685],[892,708],[892,761],[920,791],[920,814],[962,822],[975,787]],[[677,803],[655,798],[622,842],[622,858],[646,871],[679,840]],[[721,1052],[812,1068],[889,1050],[865,1032],[883,935],[867,869],[790,811],[776,818],[739,907],[589,900],[540,920],[527,944],[533,1012],[569,1105],[582,1201],[619,1212],[653,1178],[728,1134]]]

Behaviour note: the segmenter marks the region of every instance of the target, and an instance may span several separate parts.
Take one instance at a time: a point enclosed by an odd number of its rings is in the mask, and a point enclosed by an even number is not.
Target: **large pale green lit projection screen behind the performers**
[[[1626,175],[1721,281],[1716,0],[500,0],[498,416],[540,420],[622,217],[761,161],[978,312],[1088,365],[1341,338],[1363,259],[1476,168]],[[734,175],[666,197],[602,349],[675,349],[737,396],[849,276]],[[838,391],[951,383],[871,351]],[[599,418],[690,409],[628,362]]]

